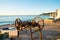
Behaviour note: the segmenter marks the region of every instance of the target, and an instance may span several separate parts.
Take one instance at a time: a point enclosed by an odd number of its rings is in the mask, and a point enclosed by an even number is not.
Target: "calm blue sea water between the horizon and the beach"
[[[32,20],[37,15],[17,15],[17,16],[0,16],[0,25],[13,24],[16,18],[20,18],[22,21]],[[49,16],[40,16],[41,18],[49,18]]]

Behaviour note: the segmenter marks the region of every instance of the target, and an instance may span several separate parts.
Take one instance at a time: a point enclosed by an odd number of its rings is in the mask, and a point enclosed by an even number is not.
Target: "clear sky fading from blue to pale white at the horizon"
[[[60,0],[0,0],[0,15],[40,15],[60,9]]]

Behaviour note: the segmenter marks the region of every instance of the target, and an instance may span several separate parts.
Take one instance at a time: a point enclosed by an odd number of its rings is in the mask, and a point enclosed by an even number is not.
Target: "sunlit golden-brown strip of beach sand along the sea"
[[[6,25],[0,25],[0,28],[5,28],[5,27],[15,27],[14,24],[6,24]],[[45,27],[43,30],[55,30],[55,31],[60,31],[60,23],[45,23]]]

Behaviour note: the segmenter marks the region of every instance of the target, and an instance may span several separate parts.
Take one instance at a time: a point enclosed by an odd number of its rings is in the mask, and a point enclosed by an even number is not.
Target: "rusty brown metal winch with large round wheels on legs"
[[[20,18],[17,18],[15,20],[15,27],[16,27],[17,33],[18,33],[17,37],[19,37],[19,31],[29,27],[30,28],[29,30],[30,30],[31,40],[33,40],[32,27],[33,28],[34,27],[38,27],[39,28],[39,32],[40,32],[40,40],[42,40],[42,29],[44,28],[44,20],[41,17],[35,17],[30,22],[28,22],[28,21],[22,22]]]

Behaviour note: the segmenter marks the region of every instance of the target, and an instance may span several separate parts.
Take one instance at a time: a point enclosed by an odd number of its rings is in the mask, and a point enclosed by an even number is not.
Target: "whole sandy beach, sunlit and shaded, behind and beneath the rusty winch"
[[[0,28],[5,28],[5,27],[15,27],[12,24],[7,24],[7,25],[2,25],[0,26]],[[56,39],[60,39],[60,22],[56,22],[56,23],[45,23],[45,26],[42,30],[43,33],[43,40],[56,40]],[[29,31],[24,30],[24,32],[22,31],[20,33],[20,38],[14,38],[16,39],[22,39],[22,40],[31,40],[30,39],[30,33]],[[25,38],[26,37],[26,38]],[[33,38],[36,40],[39,40],[39,32],[33,32]]]

